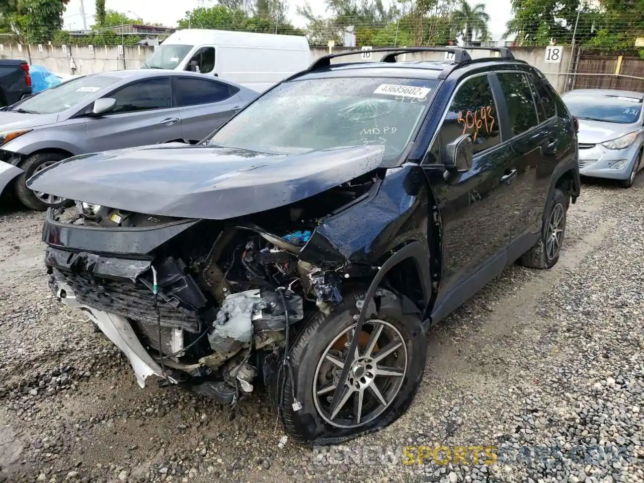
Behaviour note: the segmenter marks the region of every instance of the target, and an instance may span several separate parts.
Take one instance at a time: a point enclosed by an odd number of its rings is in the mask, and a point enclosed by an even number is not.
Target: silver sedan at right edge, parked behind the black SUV
[[[644,109],[641,92],[579,89],[562,100],[579,120],[579,172],[619,180],[629,188],[642,163]]]

